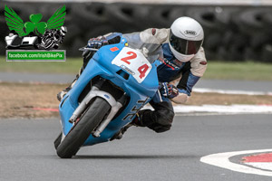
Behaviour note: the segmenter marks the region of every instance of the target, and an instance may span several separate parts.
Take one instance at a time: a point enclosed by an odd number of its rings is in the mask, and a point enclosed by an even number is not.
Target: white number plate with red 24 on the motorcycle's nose
[[[139,83],[145,80],[152,68],[151,63],[140,51],[129,47],[124,47],[112,60],[112,64],[130,73]]]

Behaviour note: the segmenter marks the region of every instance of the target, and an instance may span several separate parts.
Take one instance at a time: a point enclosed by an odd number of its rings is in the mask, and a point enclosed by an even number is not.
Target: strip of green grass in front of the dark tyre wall
[[[76,74],[82,64],[82,58],[68,58],[66,62],[5,62],[5,57],[0,57],[0,71]],[[272,81],[272,63],[208,62],[203,79]]]

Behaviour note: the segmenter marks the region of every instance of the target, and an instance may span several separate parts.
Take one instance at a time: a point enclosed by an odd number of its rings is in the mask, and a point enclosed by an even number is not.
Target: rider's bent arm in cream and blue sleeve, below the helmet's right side
[[[203,48],[190,61],[190,69],[183,72],[180,82],[177,86],[179,95],[172,99],[175,103],[184,104],[190,96],[190,92],[194,85],[203,76],[207,69],[207,61]]]

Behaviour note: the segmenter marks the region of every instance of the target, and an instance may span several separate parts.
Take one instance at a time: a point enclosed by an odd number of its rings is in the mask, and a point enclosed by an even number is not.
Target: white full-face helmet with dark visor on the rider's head
[[[188,62],[203,43],[202,26],[190,17],[180,17],[170,27],[170,51],[180,62]]]

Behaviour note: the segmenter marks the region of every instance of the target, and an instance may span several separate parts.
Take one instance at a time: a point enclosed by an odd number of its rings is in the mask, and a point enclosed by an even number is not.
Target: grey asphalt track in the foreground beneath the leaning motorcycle
[[[176,116],[170,131],[131,128],[121,140],[56,156],[55,119],[0,120],[0,180],[271,180],[213,167],[209,154],[271,148],[271,114]]]

